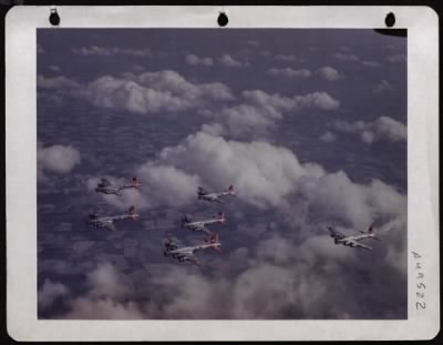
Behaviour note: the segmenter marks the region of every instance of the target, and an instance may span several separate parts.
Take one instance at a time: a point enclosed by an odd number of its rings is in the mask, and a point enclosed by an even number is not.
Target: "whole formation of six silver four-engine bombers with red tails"
[[[114,194],[120,196],[123,190],[138,189],[142,184],[138,183],[137,177],[134,176],[130,183],[123,185],[114,185],[106,179],[102,177],[97,183],[95,192],[103,194]],[[202,186],[197,189],[197,199],[206,202],[218,202],[224,204],[225,197],[235,196],[236,191],[234,185],[229,185],[222,192],[208,192]],[[135,221],[140,215],[135,213],[135,207],[132,205],[124,214],[99,216],[96,213],[90,213],[87,223],[99,229],[116,230],[114,223],[117,221],[133,220]],[[192,262],[202,266],[203,263],[195,256],[195,252],[206,248],[212,248],[217,252],[220,251],[222,243],[218,240],[218,234],[210,231],[207,226],[214,224],[224,224],[226,222],[225,213],[218,212],[213,217],[207,220],[193,220],[188,214],[184,213],[182,217],[182,227],[193,232],[202,232],[208,235],[198,245],[184,245],[177,237],[173,237],[169,232],[166,232],[166,237],[163,240],[164,251],[163,254],[167,257],[176,258],[179,262]],[[336,245],[342,244],[344,246],[372,250],[372,247],[362,244],[361,241],[367,239],[380,240],[373,233],[373,224],[367,231],[360,231],[360,234],[346,235],[342,232],[333,229],[332,226],[320,226],[329,231],[330,236],[333,239]]]

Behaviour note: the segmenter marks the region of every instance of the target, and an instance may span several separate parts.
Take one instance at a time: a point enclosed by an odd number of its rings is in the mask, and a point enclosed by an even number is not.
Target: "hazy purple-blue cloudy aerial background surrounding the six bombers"
[[[37,42],[39,317],[408,316],[406,38],[41,29]],[[140,191],[94,192],[133,175]],[[223,206],[196,199],[229,184]],[[114,233],[85,224],[132,204],[140,221]],[[218,211],[207,266],[163,256],[165,231],[203,240],[182,212]],[[371,223],[368,252],[319,226]]]

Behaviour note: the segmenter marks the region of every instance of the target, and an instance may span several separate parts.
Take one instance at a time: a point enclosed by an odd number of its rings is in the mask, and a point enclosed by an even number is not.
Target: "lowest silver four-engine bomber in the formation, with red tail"
[[[214,233],[208,240],[203,244],[194,246],[184,246],[178,240],[173,240],[169,233],[166,233],[166,239],[164,242],[165,248],[163,254],[167,257],[174,257],[179,262],[189,261],[198,266],[203,266],[203,263],[194,255],[194,252],[199,250],[212,248],[217,252],[220,251],[222,243],[218,242],[218,235]]]

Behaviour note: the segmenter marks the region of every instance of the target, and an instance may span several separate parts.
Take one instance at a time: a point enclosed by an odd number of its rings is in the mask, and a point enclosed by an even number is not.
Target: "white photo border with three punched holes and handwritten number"
[[[429,7],[58,7],[60,28],[408,29],[408,319],[48,321],[37,314],[37,28],[51,7],[6,18],[7,326],[17,341],[430,339],[440,331],[439,17]],[[217,24],[225,12],[229,22]],[[53,28],[53,30],[59,30]],[[19,154],[20,152],[20,154]],[[421,255],[416,260],[412,252]],[[416,263],[425,310],[416,308]]]

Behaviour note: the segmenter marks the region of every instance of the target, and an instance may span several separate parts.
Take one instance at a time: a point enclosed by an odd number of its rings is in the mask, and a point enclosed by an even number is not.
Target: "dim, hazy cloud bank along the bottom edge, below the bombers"
[[[398,263],[404,263],[405,243],[395,244],[396,248],[389,241],[398,240],[404,223],[391,225],[379,234],[387,247],[370,258],[367,252],[334,246],[322,234],[297,244],[292,234],[271,233],[256,248],[240,247],[214,257],[209,272],[189,265],[146,264],[145,274],[134,280],[100,263],[87,274],[85,294],[63,295],[66,312],[58,317],[401,318],[406,305],[401,286],[406,277],[404,265]],[[372,277],[374,270],[382,281]],[[378,294],[383,295],[382,302]]]

